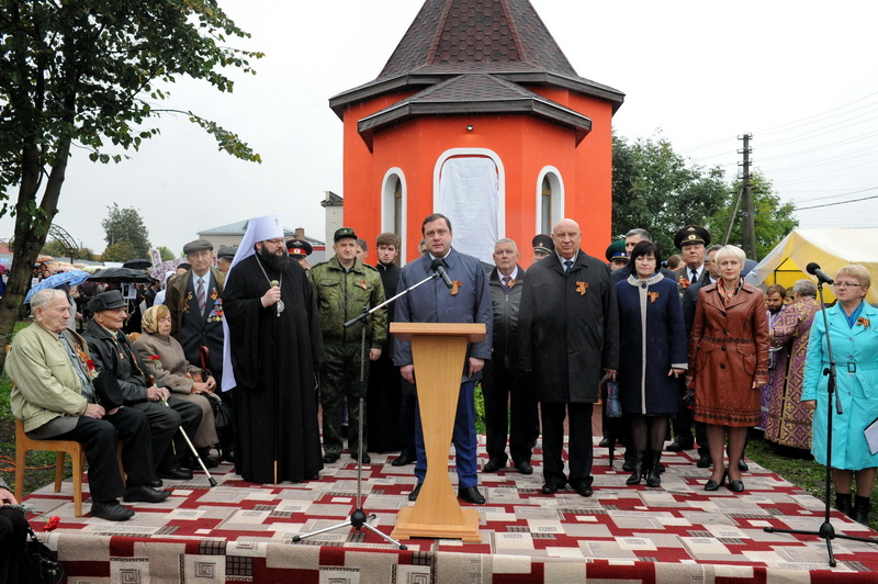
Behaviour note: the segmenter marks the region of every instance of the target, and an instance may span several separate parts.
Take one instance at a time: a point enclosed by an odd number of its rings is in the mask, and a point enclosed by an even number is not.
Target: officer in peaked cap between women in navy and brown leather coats
[[[685,316],[687,289],[694,285],[700,288],[701,285],[710,283],[710,273],[705,265],[705,249],[710,245],[710,233],[700,225],[687,225],[674,235],[674,245],[680,250],[684,261],[684,266],[674,272],[674,274],[677,281],[677,289],[683,299]],[[697,299],[698,292],[696,291],[695,300]],[[691,307],[693,314],[695,314],[695,305],[693,304]],[[687,337],[691,325],[686,327]],[[680,392],[685,393],[685,391],[686,388],[680,384]],[[682,450],[691,450],[695,448],[691,409],[680,406],[677,411],[677,415],[674,417],[674,441],[668,445],[668,451],[679,452]],[[705,446],[707,446],[707,443],[705,443]]]

